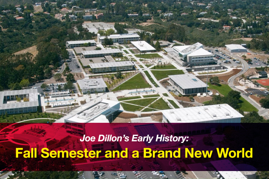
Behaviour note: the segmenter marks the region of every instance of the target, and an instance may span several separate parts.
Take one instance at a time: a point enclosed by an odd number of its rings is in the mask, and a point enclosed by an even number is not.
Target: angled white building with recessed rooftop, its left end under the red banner
[[[90,101],[81,106],[82,110],[75,114],[64,116],[65,129],[76,133],[85,134],[86,123],[109,123],[112,116],[120,109],[120,102],[102,99]]]

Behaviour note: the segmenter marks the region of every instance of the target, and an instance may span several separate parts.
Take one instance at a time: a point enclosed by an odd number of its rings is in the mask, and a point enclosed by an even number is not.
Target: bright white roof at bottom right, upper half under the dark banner
[[[225,179],[246,179],[246,177],[229,161],[216,160],[210,162]],[[223,171],[225,170],[225,171]]]

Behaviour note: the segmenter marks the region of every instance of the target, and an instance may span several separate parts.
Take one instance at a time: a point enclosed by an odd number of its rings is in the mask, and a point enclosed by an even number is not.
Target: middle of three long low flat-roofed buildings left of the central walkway
[[[107,55],[116,56],[120,53],[122,53],[120,49],[102,49],[102,50],[82,51],[82,56],[84,58],[95,58],[95,57],[104,57]]]

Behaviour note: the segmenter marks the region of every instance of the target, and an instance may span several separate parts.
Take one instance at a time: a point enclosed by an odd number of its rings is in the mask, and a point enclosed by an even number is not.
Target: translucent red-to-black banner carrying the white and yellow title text
[[[237,171],[237,164],[246,163],[266,171],[267,127],[267,123],[1,123],[0,167]]]

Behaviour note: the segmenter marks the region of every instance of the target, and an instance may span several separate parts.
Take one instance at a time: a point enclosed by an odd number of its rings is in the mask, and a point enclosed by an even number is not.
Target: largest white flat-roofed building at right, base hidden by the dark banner
[[[218,126],[239,129],[244,117],[228,104],[163,110],[163,122],[175,136],[212,133]]]

